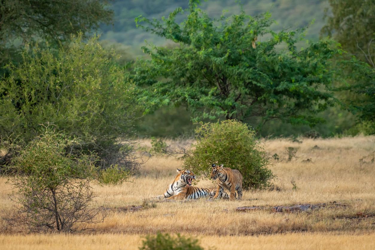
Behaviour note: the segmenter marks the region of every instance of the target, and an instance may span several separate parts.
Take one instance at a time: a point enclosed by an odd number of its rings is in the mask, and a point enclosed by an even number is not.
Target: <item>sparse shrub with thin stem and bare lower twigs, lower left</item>
[[[7,183],[13,187],[14,214],[5,218],[10,226],[26,225],[30,231],[72,232],[87,223],[102,221],[90,180],[96,172],[95,154],[67,154],[75,143],[48,127],[8,165]],[[102,214],[103,215],[103,214]]]

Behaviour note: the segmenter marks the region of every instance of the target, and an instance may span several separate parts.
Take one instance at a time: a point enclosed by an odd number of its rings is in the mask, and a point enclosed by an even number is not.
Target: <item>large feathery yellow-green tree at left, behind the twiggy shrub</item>
[[[49,122],[81,139],[70,151],[94,150],[103,166],[127,163],[133,169],[127,138],[136,109],[134,86],[98,37],[82,39],[58,51],[35,47],[18,67],[7,66],[10,75],[0,81],[0,135],[25,144],[39,133],[39,124]]]

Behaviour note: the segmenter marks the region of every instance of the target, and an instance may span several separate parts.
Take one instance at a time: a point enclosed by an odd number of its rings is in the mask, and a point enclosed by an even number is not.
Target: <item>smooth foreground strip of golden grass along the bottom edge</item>
[[[199,244],[211,249],[369,249],[375,248],[375,234],[350,235],[332,233],[291,233],[259,236],[202,236]],[[98,235],[0,235],[3,250],[18,249],[138,249],[142,235],[98,234]]]

